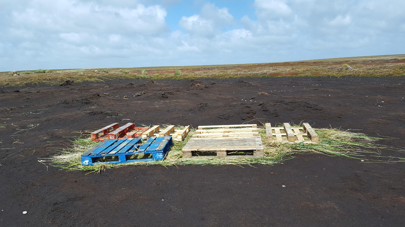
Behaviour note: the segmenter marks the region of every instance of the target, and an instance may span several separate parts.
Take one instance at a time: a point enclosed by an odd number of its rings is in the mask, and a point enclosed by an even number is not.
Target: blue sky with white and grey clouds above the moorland
[[[405,53],[404,0],[0,0],[0,71]]]

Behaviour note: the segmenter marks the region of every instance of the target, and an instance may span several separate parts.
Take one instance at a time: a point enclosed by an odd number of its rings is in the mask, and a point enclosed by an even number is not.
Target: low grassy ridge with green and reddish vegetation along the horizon
[[[58,85],[66,80],[81,83],[145,78],[156,80],[266,76],[405,76],[405,55],[239,65],[11,71],[0,73],[0,87]]]

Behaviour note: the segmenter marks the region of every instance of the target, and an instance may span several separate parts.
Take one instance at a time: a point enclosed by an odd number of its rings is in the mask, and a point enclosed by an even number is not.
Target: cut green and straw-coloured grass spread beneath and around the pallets
[[[184,127],[176,126],[176,129],[182,128]],[[299,153],[322,153],[328,156],[339,156],[369,162],[405,162],[405,158],[380,156],[381,149],[390,149],[389,147],[383,147],[374,143],[382,138],[368,137],[362,133],[355,133],[349,130],[339,130],[335,128],[314,128],[314,130],[319,135],[319,143],[304,144],[279,143],[277,141],[270,141],[266,138],[266,130],[264,128],[258,128],[264,147],[264,157],[261,158],[252,156],[228,156],[227,158],[205,158],[204,156],[193,156],[193,158],[182,158],[181,149],[195,133],[195,129],[192,129],[183,141],[173,141],[173,146],[164,160],[130,162],[122,164],[103,164],[102,160],[100,160],[100,164],[94,166],[83,166],[81,165],[81,154],[97,145],[98,142],[92,142],[88,138],[77,137],[72,141],[73,146],[71,148],[56,150],[60,153],[49,158],[49,161],[47,162],[51,162],[52,166],[57,166],[67,171],[88,170],[90,172],[100,172],[109,168],[117,168],[129,165],[275,165],[282,164],[283,161],[294,158],[292,156]]]

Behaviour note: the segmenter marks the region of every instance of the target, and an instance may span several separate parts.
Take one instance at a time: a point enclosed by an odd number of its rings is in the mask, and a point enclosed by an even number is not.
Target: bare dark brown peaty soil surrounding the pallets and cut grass
[[[2,88],[0,226],[405,226],[403,162],[311,154],[278,166],[126,166],[87,175],[38,162],[78,132],[113,122],[304,121],[394,137],[379,143],[405,147],[404,82],[300,77]]]

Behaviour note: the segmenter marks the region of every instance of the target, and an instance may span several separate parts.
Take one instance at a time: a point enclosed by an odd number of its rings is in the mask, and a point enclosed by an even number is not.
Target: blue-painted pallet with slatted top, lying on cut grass
[[[92,166],[96,164],[114,164],[141,161],[163,160],[170,147],[173,145],[172,137],[150,137],[143,144],[142,139],[106,139],[97,146],[86,151],[81,155],[81,164],[83,166]],[[129,159],[127,156],[136,154],[152,153],[152,158]],[[96,161],[97,158],[118,156],[117,161]]]

